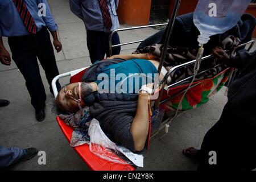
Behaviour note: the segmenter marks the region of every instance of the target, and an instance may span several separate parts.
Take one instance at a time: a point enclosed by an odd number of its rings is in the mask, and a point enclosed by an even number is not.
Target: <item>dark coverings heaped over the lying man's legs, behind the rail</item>
[[[168,26],[169,25],[170,24],[168,24]],[[216,46],[231,50],[228,53],[229,55],[232,55],[234,47],[238,46],[240,43],[245,43],[251,40],[254,27],[255,18],[250,14],[243,14],[241,20],[231,30],[226,31],[224,34],[218,34],[210,37],[209,42],[204,45],[204,55],[209,55],[210,51]],[[163,51],[164,38],[166,38],[166,32],[166,30],[159,31],[155,35],[144,40],[144,42],[142,42],[133,53],[151,52],[160,59],[160,55]],[[166,59],[164,60],[164,67],[166,67],[167,70],[170,70],[176,65],[196,59],[197,49],[199,48],[197,36],[199,34],[199,31],[193,24],[193,13],[181,15],[176,18],[174,30],[170,39],[170,45],[168,46]],[[226,68],[225,65],[213,68],[214,65],[218,64],[220,63],[218,63],[218,60],[214,58],[202,61],[200,71],[207,70],[207,72],[197,75],[196,80],[212,78]],[[185,77],[192,75],[193,65],[181,68],[172,73],[172,83],[183,80]]]

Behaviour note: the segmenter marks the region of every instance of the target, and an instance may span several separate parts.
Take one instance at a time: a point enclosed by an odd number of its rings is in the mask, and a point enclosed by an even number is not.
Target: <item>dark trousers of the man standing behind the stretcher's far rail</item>
[[[90,61],[95,61],[109,57],[109,33],[87,30],[87,47],[90,53]],[[115,33],[112,36],[112,45],[120,44],[119,36]],[[119,55],[121,47],[114,47],[112,55]]]

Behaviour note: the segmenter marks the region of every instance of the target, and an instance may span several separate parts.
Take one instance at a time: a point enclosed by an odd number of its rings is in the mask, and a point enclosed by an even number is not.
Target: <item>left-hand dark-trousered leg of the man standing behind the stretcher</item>
[[[87,47],[90,54],[90,61],[102,60],[105,57],[105,32],[87,30]]]

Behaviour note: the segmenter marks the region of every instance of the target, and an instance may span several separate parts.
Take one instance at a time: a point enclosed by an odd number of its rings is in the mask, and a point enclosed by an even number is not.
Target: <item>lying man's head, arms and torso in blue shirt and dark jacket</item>
[[[75,113],[89,106],[91,117],[110,139],[133,152],[142,151],[148,136],[148,97],[159,65],[152,59],[154,55],[143,53],[115,55],[94,63],[82,82],[60,90],[58,109]],[[159,80],[166,72],[163,68]]]

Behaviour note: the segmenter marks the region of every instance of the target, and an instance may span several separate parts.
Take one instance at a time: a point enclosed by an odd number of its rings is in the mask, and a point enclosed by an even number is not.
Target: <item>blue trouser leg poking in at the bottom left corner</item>
[[[0,146],[0,168],[10,166],[18,162],[20,158],[22,158],[22,149]]]

